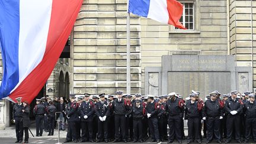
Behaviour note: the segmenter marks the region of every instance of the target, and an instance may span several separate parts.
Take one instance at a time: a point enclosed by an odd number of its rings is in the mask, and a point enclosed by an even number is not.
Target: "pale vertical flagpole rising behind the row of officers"
[[[127,12],[126,93],[130,94],[130,12]]]

